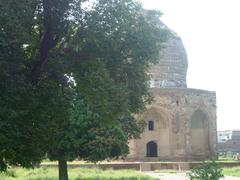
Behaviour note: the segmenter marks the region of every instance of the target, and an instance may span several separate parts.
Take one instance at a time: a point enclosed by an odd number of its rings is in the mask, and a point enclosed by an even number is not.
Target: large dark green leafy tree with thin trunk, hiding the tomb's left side
[[[133,0],[3,0],[0,167],[128,153],[167,30]]]

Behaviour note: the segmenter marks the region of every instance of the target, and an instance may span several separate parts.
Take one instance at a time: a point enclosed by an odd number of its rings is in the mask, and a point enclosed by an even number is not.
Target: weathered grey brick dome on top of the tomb
[[[181,39],[173,35],[160,51],[159,62],[150,68],[151,87],[187,87],[188,60]]]

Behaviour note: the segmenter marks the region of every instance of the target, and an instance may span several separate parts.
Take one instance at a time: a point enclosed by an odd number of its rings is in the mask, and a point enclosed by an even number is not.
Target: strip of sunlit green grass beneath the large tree
[[[70,180],[153,180],[148,175],[134,170],[100,170],[97,168],[69,168]],[[57,168],[13,168],[0,173],[1,180],[58,180]]]

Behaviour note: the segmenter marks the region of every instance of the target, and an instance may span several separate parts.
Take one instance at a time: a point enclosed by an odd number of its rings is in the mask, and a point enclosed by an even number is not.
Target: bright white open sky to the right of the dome
[[[190,88],[217,92],[218,130],[240,129],[240,1],[141,0],[183,41]]]

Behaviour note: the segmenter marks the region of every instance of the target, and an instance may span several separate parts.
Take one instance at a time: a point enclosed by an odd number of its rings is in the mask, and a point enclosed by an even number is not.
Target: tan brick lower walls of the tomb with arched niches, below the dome
[[[196,89],[152,89],[155,102],[140,118],[154,121],[140,139],[130,142],[135,160],[191,160],[216,157],[216,95]],[[198,117],[199,116],[199,117]],[[201,119],[204,118],[204,119]],[[197,120],[195,125],[194,120]],[[201,121],[201,122],[200,122]],[[157,144],[157,157],[147,156],[147,143]]]

